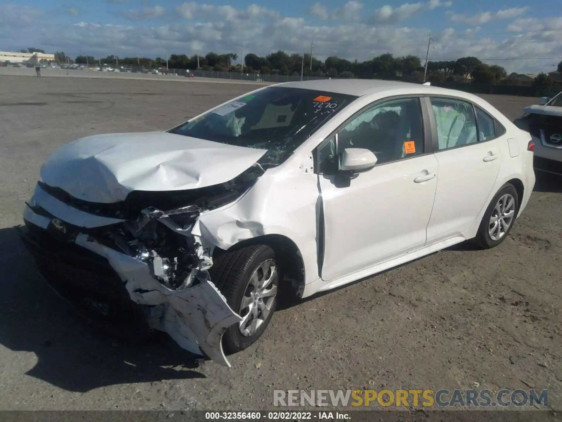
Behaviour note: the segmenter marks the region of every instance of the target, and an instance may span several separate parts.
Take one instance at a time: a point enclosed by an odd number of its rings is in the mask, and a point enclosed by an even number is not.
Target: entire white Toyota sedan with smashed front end
[[[165,132],[61,147],[20,234],[90,320],[165,331],[230,366],[281,290],[304,298],[468,239],[500,244],[531,196],[533,149],[468,93],[284,83]]]

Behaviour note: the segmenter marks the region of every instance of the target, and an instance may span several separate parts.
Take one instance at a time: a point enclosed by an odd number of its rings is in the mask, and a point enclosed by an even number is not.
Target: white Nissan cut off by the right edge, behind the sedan
[[[539,105],[525,107],[514,123],[533,137],[534,168],[562,175],[562,92],[553,98],[540,98]]]

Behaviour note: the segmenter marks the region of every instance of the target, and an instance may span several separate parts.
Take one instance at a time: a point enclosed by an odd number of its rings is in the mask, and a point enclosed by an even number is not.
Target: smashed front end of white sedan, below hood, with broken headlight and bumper
[[[66,298],[69,290],[62,279],[76,286],[92,276],[81,288],[112,298],[114,308],[134,303],[151,329],[165,331],[192,353],[230,366],[221,338],[242,318],[210,280],[214,245],[202,237],[199,221],[201,213],[238,199],[262,173],[255,165],[221,185],[132,192],[117,204],[87,203],[39,182],[25,209],[25,227],[20,233],[39,272]],[[103,262],[80,272],[85,264],[75,255]],[[69,274],[57,272],[55,267]],[[119,282],[108,283],[112,276]],[[124,291],[129,304],[124,303]],[[76,298],[71,299],[76,304]],[[131,315],[124,313],[123,318]]]

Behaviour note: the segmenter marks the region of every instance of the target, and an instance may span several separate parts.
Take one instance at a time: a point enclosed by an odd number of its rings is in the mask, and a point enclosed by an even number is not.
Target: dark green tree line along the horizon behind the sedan
[[[57,52],[57,61],[66,62],[64,52]],[[203,55],[187,56],[172,54],[168,57],[169,69],[189,69],[207,71],[240,72],[239,64],[233,65],[238,59],[236,53],[217,54],[213,52]],[[166,60],[162,57],[148,59],[146,57],[116,57],[107,56],[96,59],[93,56],[78,56],[73,60],[76,64],[89,65],[119,65],[143,66],[147,69],[165,68]],[[558,64],[562,71],[562,61]],[[480,84],[508,84],[519,85],[522,81],[519,74],[507,74],[498,65],[488,65],[477,57],[460,57],[450,61],[428,61],[427,72],[418,56],[408,55],[395,57],[385,53],[365,61],[350,61],[337,56],[330,56],[326,60],[318,60],[305,54],[288,54],[277,51],[269,55],[258,56],[248,53],[244,56],[244,73],[303,75],[307,77],[332,78],[361,78],[361,79],[395,79],[407,82],[473,82]],[[534,80],[536,86],[551,86],[554,81],[550,75],[541,73]]]

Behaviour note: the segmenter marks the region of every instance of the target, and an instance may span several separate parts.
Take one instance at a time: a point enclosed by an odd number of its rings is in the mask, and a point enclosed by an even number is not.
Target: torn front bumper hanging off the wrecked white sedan
[[[66,207],[53,217],[65,221]],[[151,328],[165,331],[180,347],[230,367],[221,338],[242,318],[212,282],[169,289],[151,275],[146,262],[87,234],[79,233],[72,241],[57,240],[49,232],[53,217],[41,216],[28,206],[19,232],[40,274],[62,297],[116,334],[142,335]]]

